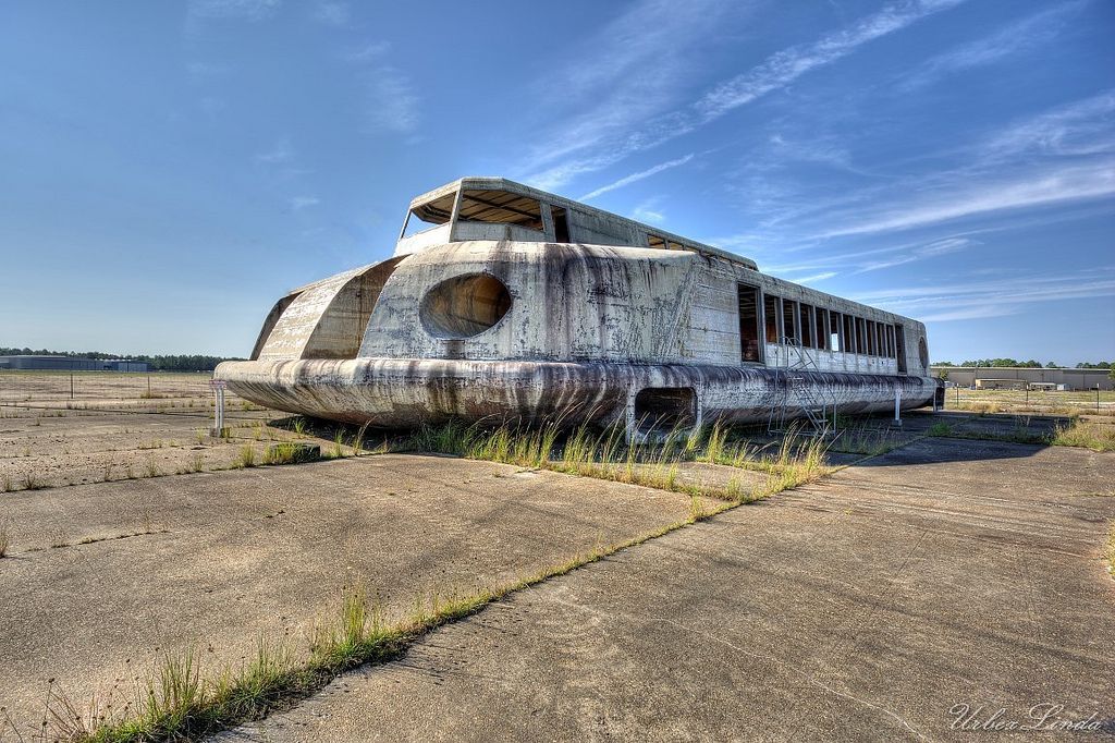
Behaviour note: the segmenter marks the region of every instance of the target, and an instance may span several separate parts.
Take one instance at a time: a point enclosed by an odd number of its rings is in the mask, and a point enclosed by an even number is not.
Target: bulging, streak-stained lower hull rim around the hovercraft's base
[[[818,404],[844,414],[930,405],[935,379],[795,370]],[[785,370],[715,365],[486,361],[455,359],[307,359],[226,361],[215,378],[236,395],[280,411],[347,423],[414,427],[449,418],[478,422],[636,423],[636,397],[648,389],[691,389],[695,425],[767,419],[773,404],[798,398]],[[804,401],[802,401],[804,402]]]

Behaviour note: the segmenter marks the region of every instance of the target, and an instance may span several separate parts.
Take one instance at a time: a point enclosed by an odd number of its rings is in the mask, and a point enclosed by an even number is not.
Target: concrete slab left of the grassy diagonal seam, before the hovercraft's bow
[[[304,648],[346,586],[367,587],[390,619],[690,509],[659,490],[404,454],[0,499],[13,540],[0,560],[0,706],[17,720],[41,715],[49,678],[78,704],[114,685],[128,698],[165,649],[195,647],[215,670],[261,633]]]

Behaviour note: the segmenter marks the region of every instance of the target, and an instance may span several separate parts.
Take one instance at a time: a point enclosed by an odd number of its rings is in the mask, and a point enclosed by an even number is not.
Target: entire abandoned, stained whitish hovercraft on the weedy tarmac
[[[711,419],[817,425],[943,392],[921,322],[478,177],[415,199],[391,258],[280,299],[251,360],[215,377],[347,423],[562,418],[632,436]]]

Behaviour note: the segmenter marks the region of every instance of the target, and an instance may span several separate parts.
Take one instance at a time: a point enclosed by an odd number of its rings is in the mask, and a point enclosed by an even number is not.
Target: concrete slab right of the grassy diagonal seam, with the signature
[[[1115,733],[1113,518],[1115,454],[924,438],[219,740],[1092,740]]]

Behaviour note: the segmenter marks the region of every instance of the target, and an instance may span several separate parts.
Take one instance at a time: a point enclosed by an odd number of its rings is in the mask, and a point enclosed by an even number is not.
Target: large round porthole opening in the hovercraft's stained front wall
[[[511,292],[487,273],[446,279],[423,297],[418,317],[437,338],[471,338],[498,322],[511,309]]]

